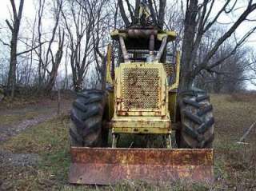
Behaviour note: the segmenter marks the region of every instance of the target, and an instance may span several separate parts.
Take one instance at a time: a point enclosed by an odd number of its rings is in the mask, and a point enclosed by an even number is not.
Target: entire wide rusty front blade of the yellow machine
[[[123,180],[214,181],[213,149],[71,147],[70,152],[72,184],[112,185]]]

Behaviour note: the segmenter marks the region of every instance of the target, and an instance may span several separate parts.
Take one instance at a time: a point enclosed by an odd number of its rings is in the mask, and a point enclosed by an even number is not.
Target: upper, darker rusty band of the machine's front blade
[[[213,149],[111,149],[71,147],[71,160],[85,164],[213,165]]]

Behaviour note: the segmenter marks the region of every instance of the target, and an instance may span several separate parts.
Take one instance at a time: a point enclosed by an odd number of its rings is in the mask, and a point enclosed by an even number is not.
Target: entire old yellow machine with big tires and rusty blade
[[[170,63],[167,51],[176,33],[159,30],[145,15],[138,20],[111,34],[119,49],[113,53],[108,46],[106,90],[85,90],[74,101],[69,181],[211,182],[214,117],[209,96],[198,89],[178,92],[180,53]],[[133,136],[145,137],[146,144],[118,147]]]

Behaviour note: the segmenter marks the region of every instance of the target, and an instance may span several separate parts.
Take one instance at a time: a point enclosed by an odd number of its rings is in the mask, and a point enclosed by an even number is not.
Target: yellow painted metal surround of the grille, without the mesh
[[[123,99],[123,75],[126,68],[157,69],[159,100],[158,109],[125,109],[122,105]],[[168,109],[168,84],[166,71],[162,63],[134,62],[121,63],[115,68],[114,81],[114,117],[111,120],[112,133],[158,133],[167,134],[171,132],[170,114]]]

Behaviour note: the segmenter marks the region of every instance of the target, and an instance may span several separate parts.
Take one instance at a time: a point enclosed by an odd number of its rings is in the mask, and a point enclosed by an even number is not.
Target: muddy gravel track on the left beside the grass
[[[74,101],[74,97],[62,99],[61,115],[70,113],[72,101]],[[57,111],[58,101],[49,99],[42,99],[35,104],[26,104],[11,109],[0,105],[0,190],[15,190],[13,182],[9,181],[9,178],[30,177],[31,174],[36,176],[39,161],[42,160],[38,153],[12,153],[8,149],[3,149],[2,145],[6,141],[11,141],[12,137],[24,130],[37,128],[38,124],[57,117]]]

